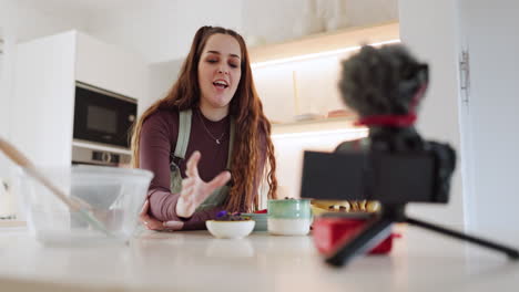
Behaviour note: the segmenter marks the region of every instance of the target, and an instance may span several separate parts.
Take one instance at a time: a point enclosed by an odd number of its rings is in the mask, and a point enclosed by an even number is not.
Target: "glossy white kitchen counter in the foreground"
[[[0,229],[0,291],[518,291],[519,262],[401,227],[390,255],[326,265],[312,237],[144,231],[129,246],[43,247]]]

